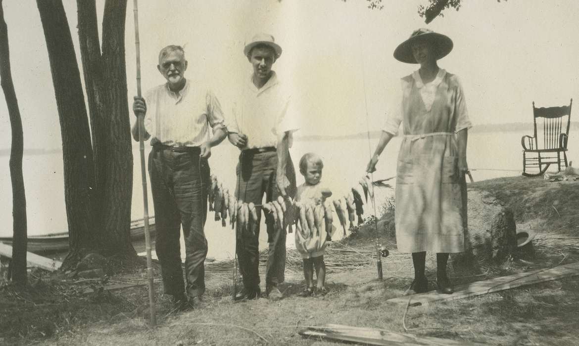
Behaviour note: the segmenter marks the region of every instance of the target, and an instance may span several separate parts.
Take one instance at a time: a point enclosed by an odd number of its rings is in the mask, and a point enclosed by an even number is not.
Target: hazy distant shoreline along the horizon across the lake
[[[571,122],[569,131],[579,130],[579,122]],[[485,133],[485,132],[522,132],[527,131],[529,135],[533,132],[533,123],[504,123],[504,124],[482,124],[473,126],[470,133]],[[380,138],[381,130],[370,131],[370,138]],[[296,141],[339,141],[344,139],[364,139],[368,138],[368,132],[360,132],[349,135],[295,135]],[[61,148],[52,149],[24,149],[25,155],[42,155],[61,153]],[[9,156],[10,148],[0,149],[0,156]]]

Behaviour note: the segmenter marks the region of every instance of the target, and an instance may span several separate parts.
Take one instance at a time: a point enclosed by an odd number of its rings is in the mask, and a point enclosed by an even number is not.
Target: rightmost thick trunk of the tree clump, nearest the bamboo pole
[[[106,167],[104,219],[107,248],[115,253],[134,253],[130,241],[133,197],[133,147],[130,132],[124,31],[127,0],[107,0],[102,20],[102,58],[107,116],[107,146],[110,157],[97,161]],[[129,174],[127,174],[129,172]]]

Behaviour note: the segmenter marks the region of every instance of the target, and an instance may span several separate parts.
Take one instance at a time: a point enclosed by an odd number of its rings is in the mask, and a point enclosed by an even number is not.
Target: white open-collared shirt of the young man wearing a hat
[[[259,89],[251,76],[243,85],[242,99],[233,106],[228,131],[247,135],[244,149],[276,147],[278,137],[284,132],[291,134],[299,129],[290,99],[290,93],[283,88],[274,71]]]

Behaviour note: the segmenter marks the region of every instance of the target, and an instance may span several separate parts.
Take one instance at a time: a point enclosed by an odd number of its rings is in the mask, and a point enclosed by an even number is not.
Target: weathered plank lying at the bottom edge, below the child
[[[417,337],[413,334],[389,332],[388,330],[344,326],[329,323],[320,327],[308,327],[301,330],[300,335],[312,338],[324,338],[335,341],[367,345],[475,345],[466,341],[455,341],[435,337]]]

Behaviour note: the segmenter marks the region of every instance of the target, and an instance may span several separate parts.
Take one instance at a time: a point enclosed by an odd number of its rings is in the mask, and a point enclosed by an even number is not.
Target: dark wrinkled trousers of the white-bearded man
[[[198,149],[198,148],[196,148]],[[205,292],[204,260],[207,239],[203,231],[207,217],[210,183],[207,159],[199,150],[176,152],[154,148],[149,154],[149,176],[155,207],[155,250],[161,263],[164,292],[184,292],[179,237],[185,239],[185,292],[191,297]]]

